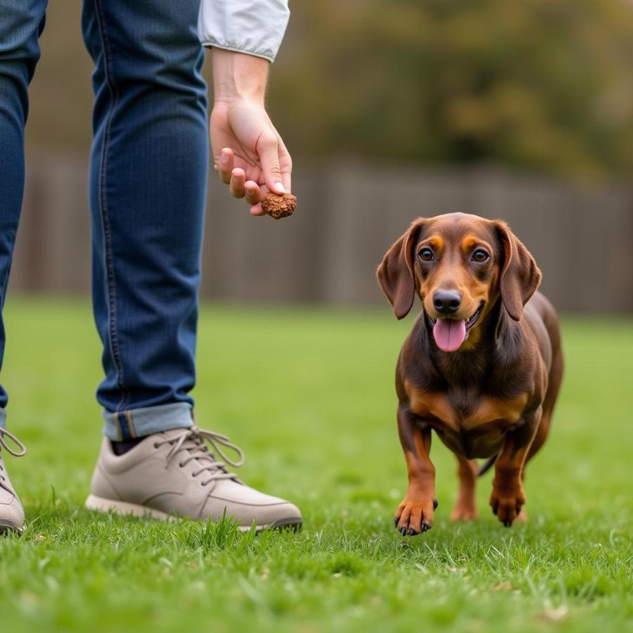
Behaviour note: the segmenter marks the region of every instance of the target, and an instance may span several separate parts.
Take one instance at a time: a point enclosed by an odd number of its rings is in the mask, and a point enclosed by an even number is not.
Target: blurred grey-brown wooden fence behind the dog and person
[[[567,311],[633,312],[633,188],[577,188],[502,170],[340,161],[295,167],[298,210],[252,218],[210,183],[202,294],[365,305],[383,301],[378,262],[409,222],[450,211],[506,219]],[[84,292],[90,283],[86,161],[28,164],[11,287]]]

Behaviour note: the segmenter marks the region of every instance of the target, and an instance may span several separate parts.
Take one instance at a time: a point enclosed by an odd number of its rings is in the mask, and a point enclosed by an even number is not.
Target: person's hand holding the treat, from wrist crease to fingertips
[[[210,120],[215,169],[251,215],[265,215],[264,193],[290,192],[292,162],[263,104],[248,99],[215,103]]]

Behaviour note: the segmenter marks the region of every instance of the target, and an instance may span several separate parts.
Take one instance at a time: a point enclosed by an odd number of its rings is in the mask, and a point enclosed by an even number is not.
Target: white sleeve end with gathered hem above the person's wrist
[[[288,0],[201,0],[198,35],[203,46],[272,62],[289,18]]]

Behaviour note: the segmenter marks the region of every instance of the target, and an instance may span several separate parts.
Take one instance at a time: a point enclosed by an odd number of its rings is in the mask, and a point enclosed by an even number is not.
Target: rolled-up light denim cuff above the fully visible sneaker
[[[160,407],[127,409],[115,413],[103,411],[103,419],[106,421],[104,435],[115,442],[193,426],[191,404],[188,402],[172,402],[161,404]]]

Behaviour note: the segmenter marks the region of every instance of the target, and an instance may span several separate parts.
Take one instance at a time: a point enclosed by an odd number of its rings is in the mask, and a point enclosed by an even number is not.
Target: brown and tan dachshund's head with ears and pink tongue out
[[[416,293],[441,350],[454,352],[501,297],[515,321],[541,271],[505,222],[451,213],[419,218],[387,251],[378,283],[398,319]]]

